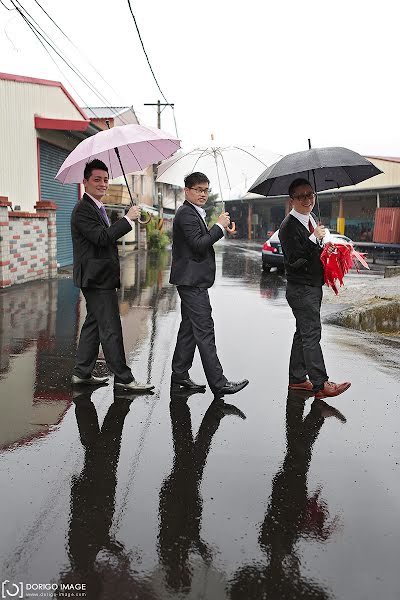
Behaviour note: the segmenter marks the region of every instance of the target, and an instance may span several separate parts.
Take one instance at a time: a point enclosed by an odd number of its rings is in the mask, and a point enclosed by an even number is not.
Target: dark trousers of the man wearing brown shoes
[[[322,287],[288,282],[286,299],[296,319],[289,384],[302,383],[308,375],[314,389],[320,390],[328,380],[320,345]]]

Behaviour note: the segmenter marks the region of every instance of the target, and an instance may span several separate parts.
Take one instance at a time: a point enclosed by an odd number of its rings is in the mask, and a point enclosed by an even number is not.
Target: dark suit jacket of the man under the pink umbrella
[[[117,240],[130,230],[125,218],[108,227],[93,200],[83,195],[71,215],[77,287],[105,290],[120,287]]]

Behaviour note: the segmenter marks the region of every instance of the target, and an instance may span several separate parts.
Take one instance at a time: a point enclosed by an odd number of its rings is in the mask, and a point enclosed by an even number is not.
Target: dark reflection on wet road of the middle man
[[[160,490],[160,530],[158,551],[167,586],[175,592],[188,592],[192,569],[189,553],[197,552],[205,563],[212,559],[211,549],[201,539],[203,500],[200,485],[212,438],[226,415],[245,415],[222,399],[214,400],[193,438],[190,410],[186,400],[193,392],[172,392],[170,413],[174,444],[171,474]]]

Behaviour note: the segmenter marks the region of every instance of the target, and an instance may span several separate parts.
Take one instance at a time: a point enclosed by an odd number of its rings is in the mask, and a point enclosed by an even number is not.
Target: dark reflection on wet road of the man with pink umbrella
[[[119,600],[155,598],[134,579],[132,556],[110,532],[122,429],[135,396],[115,397],[100,428],[92,394],[90,390],[74,398],[85,459],[81,473],[72,477],[67,548],[70,569],[63,573],[62,582],[86,583],[87,600],[111,598],[108,587]],[[102,561],[96,564],[99,552]]]

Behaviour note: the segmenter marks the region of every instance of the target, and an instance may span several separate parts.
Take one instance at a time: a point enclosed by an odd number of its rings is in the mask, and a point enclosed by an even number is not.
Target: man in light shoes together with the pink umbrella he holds
[[[74,283],[85,296],[87,316],[83,324],[72,383],[98,385],[107,377],[92,374],[101,343],[114,387],[146,392],[154,388],[135,381],[126,364],[116,288],[120,287],[117,240],[140,223],[126,173],[141,171],[169,158],[180,148],[180,140],[160,129],[144,125],[112,127],[83,140],[61,165],[56,179],[61,183],[83,183],[85,194],[71,215],[74,248]],[[102,204],[111,179],[123,176],[131,208],[112,225]]]

